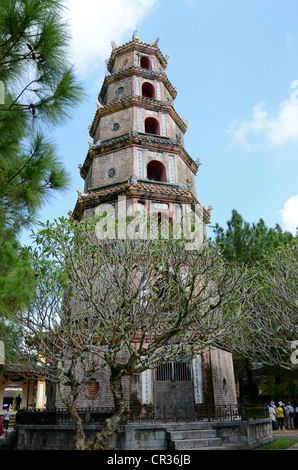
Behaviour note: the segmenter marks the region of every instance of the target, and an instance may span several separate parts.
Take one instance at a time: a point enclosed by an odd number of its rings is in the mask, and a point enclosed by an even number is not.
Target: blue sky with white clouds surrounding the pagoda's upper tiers
[[[170,59],[175,108],[188,119],[185,148],[202,165],[197,196],[211,225],[233,209],[250,222],[298,227],[297,0],[70,0],[72,59],[88,98],[50,137],[72,183],[43,206],[46,221],[72,211],[83,180],[88,125],[106,72],[110,41],[142,42]],[[208,234],[212,235],[212,229]],[[22,241],[27,242],[27,234]]]

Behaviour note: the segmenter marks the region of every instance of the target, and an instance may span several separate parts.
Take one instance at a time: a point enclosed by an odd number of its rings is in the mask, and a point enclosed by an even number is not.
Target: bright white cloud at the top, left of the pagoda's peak
[[[157,0],[69,0],[67,20],[77,68],[86,74],[102,65],[110,57],[110,41],[120,45],[127,33],[132,37],[156,4]]]

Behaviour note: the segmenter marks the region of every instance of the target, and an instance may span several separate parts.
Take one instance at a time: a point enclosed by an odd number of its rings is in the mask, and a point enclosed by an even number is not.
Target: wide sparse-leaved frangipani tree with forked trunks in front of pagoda
[[[230,344],[252,294],[249,272],[226,265],[209,244],[107,242],[96,237],[97,223],[61,219],[37,234],[35,299],[18,317],[18,354],[44,358],[39,373],[58,384],[77,449],[103,449],[118,428],[127,411],[125,376]],[[115,412],[87,443],[75,402],[100,367],[110,370]]]

